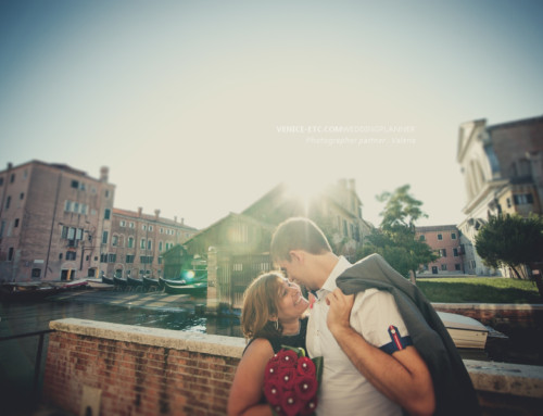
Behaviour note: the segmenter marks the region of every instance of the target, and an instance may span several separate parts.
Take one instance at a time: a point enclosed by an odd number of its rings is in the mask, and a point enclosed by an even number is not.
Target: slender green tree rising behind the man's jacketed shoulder
[[[433,262],[438,256],[426,242],[415,239],[415,222],[427,215],[420,209],[422,202],[409,193],[409,185],[404,185],[392,193],[382,192],[377,197],[384,203],[380,229],[366,237],[357,255],[362,259],[378,253],[403,276],[411,274],[415,282],[420,265]]]

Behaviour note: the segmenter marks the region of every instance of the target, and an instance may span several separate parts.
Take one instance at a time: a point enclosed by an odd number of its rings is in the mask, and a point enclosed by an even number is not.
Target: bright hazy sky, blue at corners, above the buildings
[[[0,2],[0,169],[98,177],[203,228],[290,178],[466,203],[460,123],[543,114],[543,2]],[[293,133],[286,133],[288,126]],[[395,131],[387,131],[392,129]]]

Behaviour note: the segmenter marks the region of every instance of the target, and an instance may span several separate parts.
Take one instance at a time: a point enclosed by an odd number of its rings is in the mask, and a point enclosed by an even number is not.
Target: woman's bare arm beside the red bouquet
[[[274,356],[269,341],[256,339],[247,349],[233,376],[228,398],[229,416],[272,416],[268,404],[262,403],[264,370]]]

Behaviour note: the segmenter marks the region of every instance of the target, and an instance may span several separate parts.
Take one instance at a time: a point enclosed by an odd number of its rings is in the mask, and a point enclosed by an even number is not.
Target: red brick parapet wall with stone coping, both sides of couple
[[[245,344],[241,338],[74,318],[50,327],[56,331],[50,335],[42,396],[72,414],[90,406],[90,414],[103,416],[225,415]],[[540,414],[542,367],[465,364],[484,415]]]

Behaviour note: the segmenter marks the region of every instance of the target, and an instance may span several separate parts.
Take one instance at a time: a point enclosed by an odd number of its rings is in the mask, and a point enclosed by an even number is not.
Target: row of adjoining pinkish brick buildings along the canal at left
[[[197,230],[114,209],[108,176],[40,161],[0,172],[0,282],[161,275],[161,253]]]

